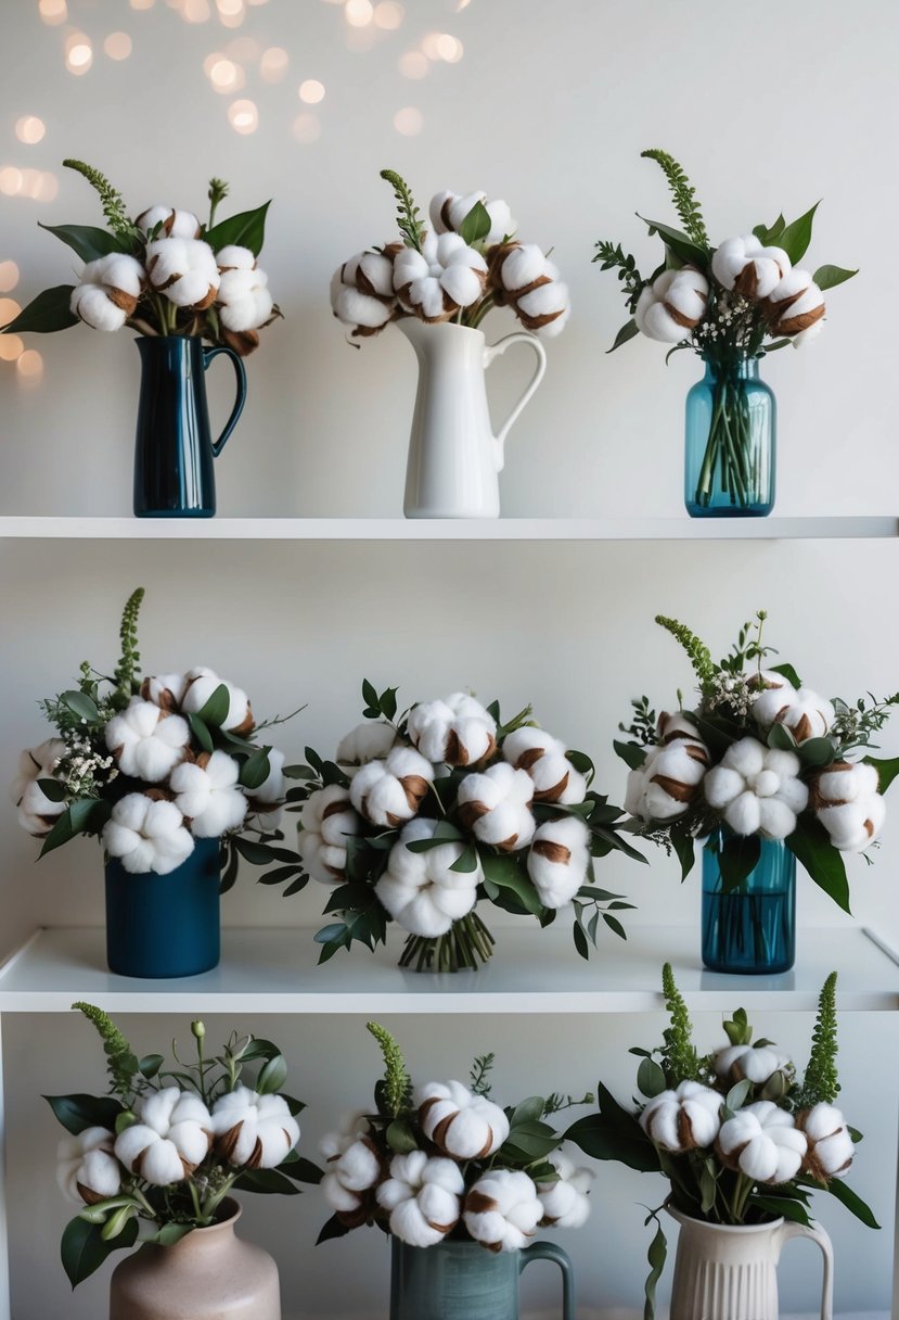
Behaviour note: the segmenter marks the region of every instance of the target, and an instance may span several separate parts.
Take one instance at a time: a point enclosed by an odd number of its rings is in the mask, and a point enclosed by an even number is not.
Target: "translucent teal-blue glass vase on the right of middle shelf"
[[[796,957],[796,858],[783,840],[761,840],[758,865],[725,892],[724,833],[703,849],[703,962],[712,972],[788,972]]]

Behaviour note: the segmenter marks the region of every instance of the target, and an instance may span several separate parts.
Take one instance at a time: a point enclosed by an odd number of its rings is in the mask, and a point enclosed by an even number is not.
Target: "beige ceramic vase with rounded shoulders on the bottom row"
[[[145,1243],[109,1282],[109,1320],[281,1320],[278,1267],[262,1247],[235,1236],[228,1218],[194,1229],[174,1246]]]

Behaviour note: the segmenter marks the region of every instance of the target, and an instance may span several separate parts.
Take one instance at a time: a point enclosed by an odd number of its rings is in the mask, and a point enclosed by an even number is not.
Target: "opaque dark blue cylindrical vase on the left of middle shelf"
[[[218,838],[198,838],[167,875],[105,866],[107,962],[121,977],[194,977],[220,956]]]

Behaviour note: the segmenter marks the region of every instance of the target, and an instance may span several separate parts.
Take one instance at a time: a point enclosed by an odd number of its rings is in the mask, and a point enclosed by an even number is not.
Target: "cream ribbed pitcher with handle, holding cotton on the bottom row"
[[[668,1206],[680,1225],[671,1320],[778,1320],[778,1261],[794,1237],[817,1242],[824,1255],[821,1320],[833,1317],[833,1247],[823,1228],[786,1220],[704,1224]]]

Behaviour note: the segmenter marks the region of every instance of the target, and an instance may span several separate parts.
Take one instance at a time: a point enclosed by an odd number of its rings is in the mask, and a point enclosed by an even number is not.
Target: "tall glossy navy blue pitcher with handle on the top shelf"
[[[246,399],[244,363],[224,345],[203,347],[199,335],[141,335],[141,393],[134,449],[136,517],[212,517],[212,461],[224,449]],[[227,354],[237,376],[237,397],[216,441],[206,407],[206,370]]]

